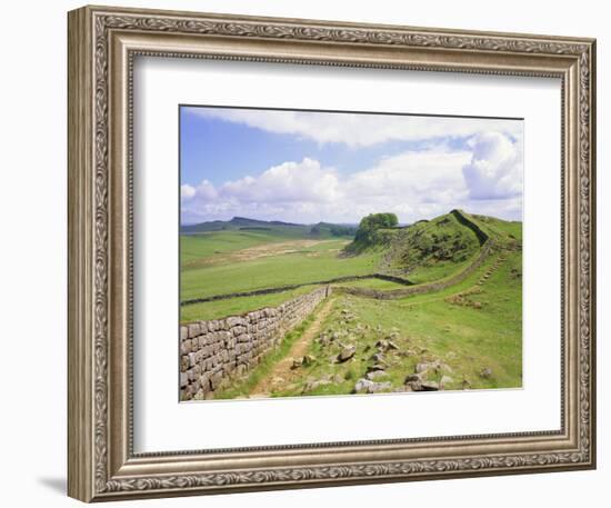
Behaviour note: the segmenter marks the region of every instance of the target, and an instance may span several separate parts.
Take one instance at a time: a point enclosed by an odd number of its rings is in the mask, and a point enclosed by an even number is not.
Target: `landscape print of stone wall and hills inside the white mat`
[[[522,119],[179,121],[180,400],[522,386]]]

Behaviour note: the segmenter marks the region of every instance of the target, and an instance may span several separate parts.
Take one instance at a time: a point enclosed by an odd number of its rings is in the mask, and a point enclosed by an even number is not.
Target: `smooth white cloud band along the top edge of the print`
[[[490,130],[519,136],[521,121],[417,117],[405,114],[330,113],[257,109],[193,108],[196,114],[243,123],[273,133],[294,135],[319,143],[369,147],[385,141],[423,141],[470,137]]]

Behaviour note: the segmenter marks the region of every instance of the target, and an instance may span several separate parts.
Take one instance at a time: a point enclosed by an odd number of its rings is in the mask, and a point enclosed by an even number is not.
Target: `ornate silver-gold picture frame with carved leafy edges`
[[[100,501],[595,467],[594,40],[103,7],[68,20],[69,496]],[[559,79],[560,430],[136,452],[132,107],[142,56]]]

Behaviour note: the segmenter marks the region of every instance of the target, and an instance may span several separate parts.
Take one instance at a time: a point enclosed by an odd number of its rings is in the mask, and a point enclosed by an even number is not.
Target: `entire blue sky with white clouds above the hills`
[[[181,223],[521,220],[523,122],[182,107]]]

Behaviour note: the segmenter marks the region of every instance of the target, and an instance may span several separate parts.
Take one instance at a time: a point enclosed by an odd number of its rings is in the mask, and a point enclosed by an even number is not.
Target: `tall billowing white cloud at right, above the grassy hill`
[[[473,155],[462,173],[472,199],[507,199],[522,193],[520,141],[512,142],[500,132],[485,132],[470,145]]]

